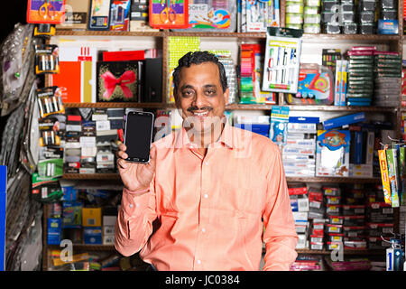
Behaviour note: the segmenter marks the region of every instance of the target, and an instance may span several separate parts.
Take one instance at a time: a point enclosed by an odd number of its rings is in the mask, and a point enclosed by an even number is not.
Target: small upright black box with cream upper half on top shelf
[[[90,0],[88,30],[109,30],[110,5],[111,0]]]

